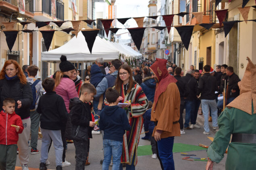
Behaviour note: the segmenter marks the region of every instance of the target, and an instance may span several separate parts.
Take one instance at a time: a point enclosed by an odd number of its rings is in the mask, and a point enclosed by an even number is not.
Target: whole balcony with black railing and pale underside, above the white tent
[[[56,14],[58,20],[64,20],[64,3],[56,0]],[[35,19],[40,21],[53,20],[52,18],[52,1],[51,0],[36,0]]]

